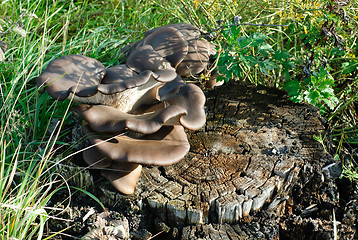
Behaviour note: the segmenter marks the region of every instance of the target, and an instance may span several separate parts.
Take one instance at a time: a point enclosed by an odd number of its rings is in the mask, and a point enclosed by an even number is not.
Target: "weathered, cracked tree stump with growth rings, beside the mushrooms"
[[[206,95],[207,123],[188,132],[189,154],[144,167],[135,198],[170,226],[234,223],[261,209],[282,214],[301,169],[327,157],[313,139],[324,129],[318,109],[239,81]]]

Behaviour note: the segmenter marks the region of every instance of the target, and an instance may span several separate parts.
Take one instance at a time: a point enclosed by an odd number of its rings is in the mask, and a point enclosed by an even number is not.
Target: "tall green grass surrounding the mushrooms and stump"
[[[353,2],[353,1],[352,1]],[[276,50],[287,51],[296,59],[297,76],[310,50],[305,46],[305,30],[314,37],[314,22],[321,22],[319,10],[327,1],[3,1],[0,6],[0,238],[41,239],[44,223],[52,216],[48,201],[60,184],[56,164],[64,156],[62,138],[71,123],[69,101],[56,102],[39,94],[36,78],[46,65],[61,55],[84,54],[106,67],[119,64],[120,50],[139,40],[146,30],[174,22],[188,22],[203,31],[242,16],[242,23],[281,24],[287,27],[240,26],[240,36],[260,32]],[[337,148],[357,146],[358,65],[357,3],[345,7],[350,22],[337,21],[347,51],[336,54],[332,43],[321,46],[330,73],[335,79],[337,106],[325,117],[334,131]],[[294,19],[294,20],[292,20]],[[345,35],[344,35],[345,34]],[[220,32],[214,43],[224,47]],[[306,36],[306,37],[307,37]],[[247,69],[246,81],[281,88],[282,69],[261,74],[257,66]],[[57,125],[56,125],[57,123]],[[348,145],[346,145],[348,146]],[[56,150],[60,149],[60,150]],[[337,149],[337,153],[340,152]],[[59,154],[63,155],[59,155]],[[346,167],[357,176],[355,165]],[[57,185],[56,185],[57,186]]]

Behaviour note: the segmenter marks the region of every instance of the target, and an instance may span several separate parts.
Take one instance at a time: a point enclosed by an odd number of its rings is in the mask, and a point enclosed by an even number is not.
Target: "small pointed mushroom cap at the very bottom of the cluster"
[[[102,176],[121,193],[133,194],[142,171],[142,165],[136,163],[112,162],[108,170],[102,170]]]

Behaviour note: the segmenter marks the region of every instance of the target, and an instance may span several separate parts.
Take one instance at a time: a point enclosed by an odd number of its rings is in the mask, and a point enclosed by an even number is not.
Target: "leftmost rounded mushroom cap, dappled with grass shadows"
[[[39,88],[51,97],[66,99],[69,94],[87,97],[97,93],[97,85],[106,73],[102,63],[83,55],[68,55],[51,61],[37,78]]]

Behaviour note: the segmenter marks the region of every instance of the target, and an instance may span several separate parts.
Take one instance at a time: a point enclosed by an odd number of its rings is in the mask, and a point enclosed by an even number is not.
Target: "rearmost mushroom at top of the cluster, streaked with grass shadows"
[[[200,38],[200,31],[186,23],[169,24],[149,30],[144,39],[126,46],[126,56],[146,45],[152,48],[171,63],[180,76],[188,77],[206,71],[215,47]],[[131,50],[129,50],[131,48]]]

